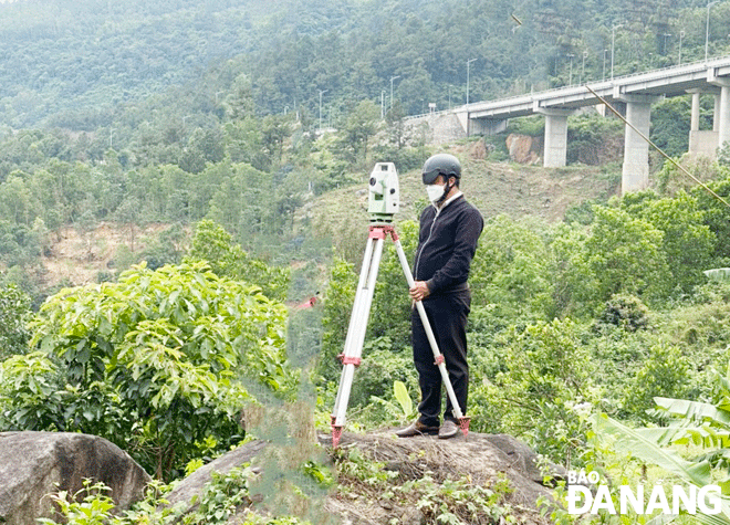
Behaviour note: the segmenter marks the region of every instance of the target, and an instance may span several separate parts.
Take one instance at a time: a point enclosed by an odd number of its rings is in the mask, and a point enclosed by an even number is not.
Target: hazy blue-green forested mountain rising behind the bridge
[[[676,62],[680,32],[699,57],[705,13],[700,0],[21,0],[0,4],[0,125],[108,126],[230,59],[260,115],[316,113],[322,93],[337,118],[392,91],[413,114],[462,104],[468,72],[472,101],[599,78],[612,36],[618,73]],[[727,2],[710,28],[711,52],[730,50]]]

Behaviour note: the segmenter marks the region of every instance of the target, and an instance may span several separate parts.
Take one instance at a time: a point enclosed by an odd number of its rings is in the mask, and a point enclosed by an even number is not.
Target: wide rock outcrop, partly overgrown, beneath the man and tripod
[[[385,465],[385,470],[397,473],[393,481],[394,484],[419,480],[425,475],[431,476],[437,482],[445,479],[468,477],[472,484],[484,487],[493,487],[507,480],[510,487],[507,503],[511,505],[518,523],[523,525],[550,523],[539,512],[539,500],[550,500],[552,490],[543,485],[543,472],[538,466],[538,455],[523,442],[510,435],[472,432],[466,439],[459,434],[455,439],[439,440],[436,437],[426,435],[396,439],[392,430],[367,434],[346,432],[342,437],[337,452],[332,449],[330,434],[321,433],[317,439],[324,450],[330,453],[331,460],[338,454],[347,454],[351,449],[356,449],[367,461]],[[259,475],[271,474],[267,473],[267,464],[262,459],[271,455],[272,447],[277,445],[259,440],[241,445],[182,480],[166,498],[170,504],[181,504],[184,508],[192,511],[199,501],[199,497],[195,496],[202,495],[206,484],[211,480],[212,472],[225,474],[232,468],[251,463]],[[552,465],[550,471],[556,477],[564,477],[565,472],[560,466]],[[283,479],[288,474],[279,472],[275,475]],[[295,474],[293,475],[295,476]],[[311,507],[322,513],[312,523],[416,525],[426,519],[426,516],[415,505],[401,505],[395,501],[386,502],[374,495],[374,486],[368,485],[367,490],[361,493],[358,486],[342,485],[342,483],[347,485],[346,480],[340,480],[340,482],[338,487],[333,487],[328,493],[322,494],[319,506]],[[261,502],[259,501],[259,503]],[[260,505],[254,504],[254,506]],[[259,511],[265,512],[265,506],[264,502],[263,508],[259,508]],[[279,511],[288,514],[293,512],[293,508],[281,507]],[[229,523],[240,523],[246,512],[246,508],[240,508],[239,513],[229,519]]]

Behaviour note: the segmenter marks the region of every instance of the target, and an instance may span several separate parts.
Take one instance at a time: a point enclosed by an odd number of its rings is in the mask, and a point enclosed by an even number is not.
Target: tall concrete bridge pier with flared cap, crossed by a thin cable
[[[622,168],[620,191],[639,191],[649,187],[649,144],[642,138],[649,136],[651,104],[661,99],[654,95],[620,95],[626,103],[626,125],[624,132],[624,166]],[[632,127],[633,126],[633,127]]]

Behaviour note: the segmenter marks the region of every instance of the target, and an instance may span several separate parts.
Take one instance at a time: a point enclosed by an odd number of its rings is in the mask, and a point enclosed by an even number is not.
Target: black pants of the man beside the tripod
[[[467,363],[467,317],[471,305],[471,293],[467,291],[435,295],[424,301],[426,316],[431,325],[436,343],[444,354],[449,380],[453,387],[459,408],[467,413],[469,391],[469,364]],[[431,350],[418,311],[411,312],[414,363],[418,371],[421,401],[418,405],[420,422],[431,427],[440,423],[441,374],[435,365]],[[446,397],[444,419],[456,420],[451,400]]]

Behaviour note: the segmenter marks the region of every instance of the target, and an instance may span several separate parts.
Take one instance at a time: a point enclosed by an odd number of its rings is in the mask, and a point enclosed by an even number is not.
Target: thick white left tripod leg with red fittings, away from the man
[[[345,349],[342,355],[343,369],[340,378],[340,387],[335,400],[335,407],[332,412],[332,442],[337,447],[342,435],[342,428],[345,424],[345,412],[352,391],[355,367],[359,364],[363,353],[363,343],[367,332],[367,321],[373,304],[373,294],[375,293],[375,283],[377,281],[380,258],[383,256],[384,237],[377,232],[371,231],[368,244],[365,250],[363,267],[361,270],[359,283],[355,294],[355,304],[350,318],[347,337],[345,339]]]

